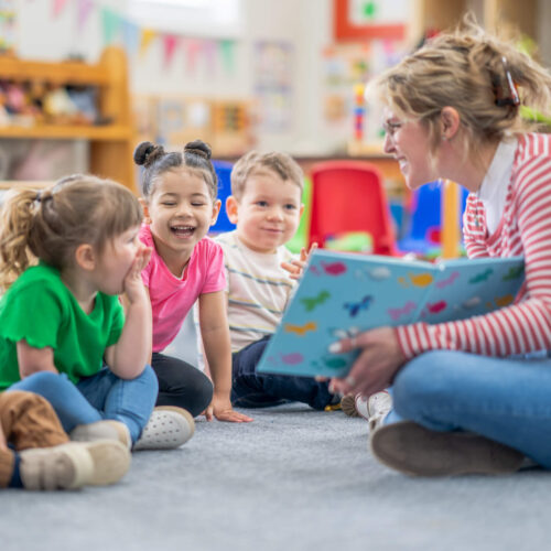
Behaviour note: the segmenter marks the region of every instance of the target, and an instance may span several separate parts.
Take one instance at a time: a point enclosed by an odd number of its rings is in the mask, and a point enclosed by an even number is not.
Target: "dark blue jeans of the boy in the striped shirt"
[[[262,408],[290,400],[323,410],[333,400],[327,382],[317,382],[312,377],[257,372],[269,338],[266,336],[234,353],[231,403],[241,408]]]

